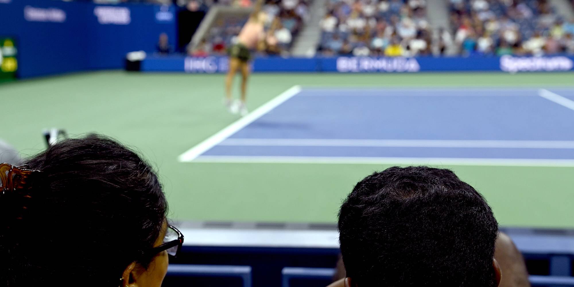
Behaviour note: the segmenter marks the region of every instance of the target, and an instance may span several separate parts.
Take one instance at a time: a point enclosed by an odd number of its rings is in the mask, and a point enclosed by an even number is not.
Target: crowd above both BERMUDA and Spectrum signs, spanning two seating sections
[[[451,29],[433,33],[425,0],[329,0],[322,55],[555,55],[574,53],[574,20],[547,0],[450,0]]]

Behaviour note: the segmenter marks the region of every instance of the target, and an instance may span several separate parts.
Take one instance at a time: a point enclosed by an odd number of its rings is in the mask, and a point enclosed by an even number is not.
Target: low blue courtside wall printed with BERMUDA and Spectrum
[[[255,72],[565,72],[574,56],[545,57],[257,57]],[[141,63],[146,72],[224,73],[227,57],[152,56]]]

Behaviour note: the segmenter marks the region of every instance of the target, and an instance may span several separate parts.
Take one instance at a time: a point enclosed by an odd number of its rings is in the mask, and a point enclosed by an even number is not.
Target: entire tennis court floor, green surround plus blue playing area
[[[256,74],[243,119],[223,107],[223,80],[102,71],[2,84],[0,134],[24,155],[44,149],[46,127],[135,146],[180,221],[334,223],[367,174],[430,164],[478,189],[501,226],[574,227],[571,73]]]

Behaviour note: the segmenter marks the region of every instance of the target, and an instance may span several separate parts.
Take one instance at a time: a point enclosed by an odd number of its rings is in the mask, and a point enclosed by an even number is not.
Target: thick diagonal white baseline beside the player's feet
[[[258,107],[245,117],[238,119],[231,125],[228,125],[223,130],[218,131],[218,133],[212,135],[211,137],[205,139],[205,141],[200,142],[198,145],[194,146],[193,148],[187,150],[180,154],[177,159],[180,162],[189,162],[194,160],[197,156],[204,153],[208,149],[213,148],[215,145],[222,142],[224,139],[229,137],[230,135],[236,133],[236,131],[243,129],[243,127],[249,125],[250,123],[254,122],[256,119],[261,118],[263,115],[269,113],[270,110],[279,106],[286,100],[292,98],[294,95],[298,94],[301,91],[301,86],[293,86],[290,87],[288,90],[282,92],[280,95],[276,96],[269,102],[263,104],[261,107]]]

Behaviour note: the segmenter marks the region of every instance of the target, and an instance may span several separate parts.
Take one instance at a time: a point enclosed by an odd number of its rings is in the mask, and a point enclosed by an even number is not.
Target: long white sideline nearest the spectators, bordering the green
[[[436,158],[436,157],[290,157],[290,156],[199,156],[193,162],[242,164],[393,164],[393,165],[488,165],[574,166],[574,160],[530,158]]]

